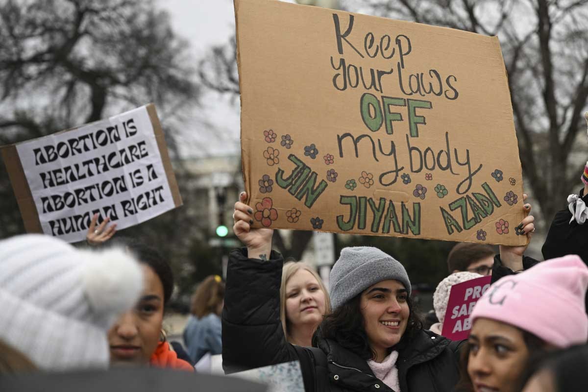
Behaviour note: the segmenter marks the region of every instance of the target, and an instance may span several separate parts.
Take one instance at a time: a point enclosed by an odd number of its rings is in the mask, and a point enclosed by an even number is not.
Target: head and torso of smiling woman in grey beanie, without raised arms
[[[348,247],[330,280],[333,313],[325,317],[315,342],[329,358],[338,384],[452,390],[461,342],[423,330],[401,263],[373,247]]]

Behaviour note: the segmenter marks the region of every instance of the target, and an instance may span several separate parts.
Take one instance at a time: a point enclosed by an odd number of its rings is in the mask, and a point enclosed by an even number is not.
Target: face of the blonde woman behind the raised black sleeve
[[[312,273],[296,271],[286,282],[286,319],[290,326],[316,325],[325,314],[325,293]]]

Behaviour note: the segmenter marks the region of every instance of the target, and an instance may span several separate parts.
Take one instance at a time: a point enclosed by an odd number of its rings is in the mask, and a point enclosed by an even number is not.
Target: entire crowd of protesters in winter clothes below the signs
[[[115,236],[97,216],[83,249],[39,234],[5,239],[0,377],[111,367],[193,373],[203,357],[222,354],[226,373],[299,361],[307,392],[588,390],[585,184],[554,218],[544,262],[524,256],[526,246],[495,254],[457,244],[426,317],[401,260],[375,247],[342,249],[330,287],[308,264],[284,263],[273,230],[252,227],[243,192],[233,230],[245,246],[229,254],[226,280],[209,276],[196,288],[183,344],[163,329],[174,279],[155,247]],[[519,229],[530,238],[534,218],[522,208]],[[488,275],[469,337],[442,336],[451,287]]]

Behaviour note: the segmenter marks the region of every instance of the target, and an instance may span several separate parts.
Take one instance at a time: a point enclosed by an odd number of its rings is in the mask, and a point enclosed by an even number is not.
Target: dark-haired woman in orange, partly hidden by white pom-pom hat
[[[193,371],[178,359],[163,333],[163,310],[173,290],[171,267],[157,250],[121,240],[141,263],[144,286],[135,307],[126,311],[108,332],[112,366],[155,366]]]

